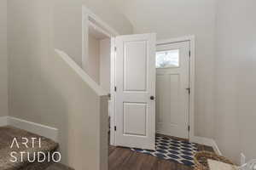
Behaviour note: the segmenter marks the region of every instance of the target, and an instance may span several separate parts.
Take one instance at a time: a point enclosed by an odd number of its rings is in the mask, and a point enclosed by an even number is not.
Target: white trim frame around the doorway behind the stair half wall
[[[89,26],[93,24],[98,31],[102,31],[111,39],[110,49],[110,103],[108,111],[110,112],[110,144],[115,144],[115,37],[119,36],[119,32],[114,30],[106,22],[101,20],[96,14],[92,13],[89,8],[82,7],[82,68],[85,70],[88,59],[88,36]]]

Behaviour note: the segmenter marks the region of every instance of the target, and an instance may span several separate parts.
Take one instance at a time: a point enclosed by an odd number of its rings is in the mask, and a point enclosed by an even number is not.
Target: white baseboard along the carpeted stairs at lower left
[[[28,122],[12,116],[7,117],[8,125],[26,130],[31,133],[36,133],[40,136],[52,139],[58,142],[58,129],[55,127],[48,127],[35,122]]]

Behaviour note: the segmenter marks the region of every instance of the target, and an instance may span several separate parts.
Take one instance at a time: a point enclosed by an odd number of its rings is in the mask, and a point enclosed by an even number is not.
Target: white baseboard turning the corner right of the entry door
[[[208,139],[208,138],[204,138],[204,137],[194,136],[189,140],[190,140],[190,142],[193,142],[193,143],[196,143],[196,144],[204,144],[204,145],[207,145],[207,146],[212,146],[215,153],[217,153],[219,156],[222,155],[221,151],[218,149],[218,145],[216,144],[214,139]]]

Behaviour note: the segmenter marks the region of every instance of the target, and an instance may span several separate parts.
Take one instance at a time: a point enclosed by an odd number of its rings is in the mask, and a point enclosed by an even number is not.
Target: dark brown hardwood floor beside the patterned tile
[[[199,145],[199,150],[213,151],[212,147]],[[129,148],[109,146],[109,170],[192,170],[192,167],[155,156],[131,151]]]

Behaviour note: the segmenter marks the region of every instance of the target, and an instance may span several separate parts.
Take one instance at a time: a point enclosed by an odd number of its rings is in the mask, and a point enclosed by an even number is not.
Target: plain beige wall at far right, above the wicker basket
[[[218,0],[215,138],[224,156],[256,158],[256,1]]]

